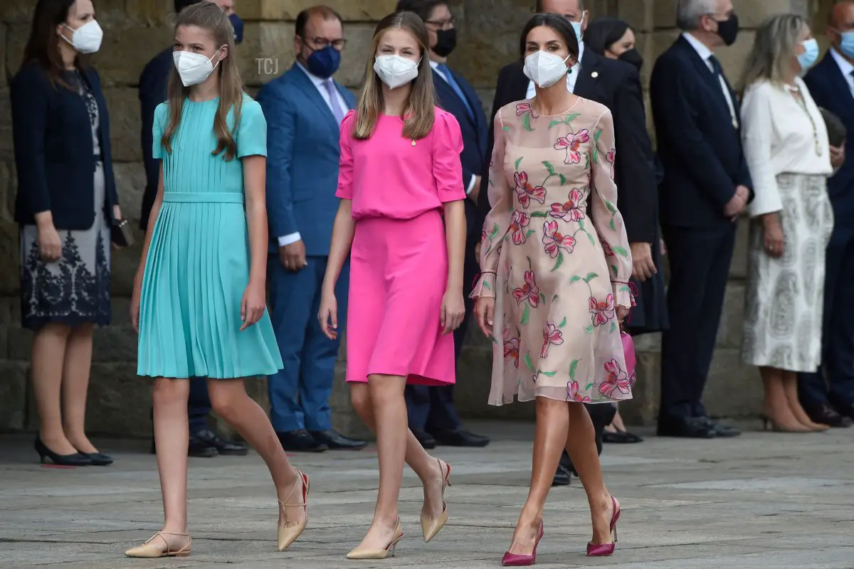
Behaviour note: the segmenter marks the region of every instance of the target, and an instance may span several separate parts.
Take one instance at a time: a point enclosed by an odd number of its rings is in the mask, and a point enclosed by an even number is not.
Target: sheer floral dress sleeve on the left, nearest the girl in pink
[[[495,276],[501,256],[501,245],[512,220],[513,192],[504,173],[506,135],[500,110],[495,113],[494,146],[489,160],[489,213],[481,235],[481,276],[471,298],[495,297]]]

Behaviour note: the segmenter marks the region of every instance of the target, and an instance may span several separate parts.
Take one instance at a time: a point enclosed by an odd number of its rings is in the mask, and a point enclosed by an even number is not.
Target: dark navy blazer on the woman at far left
[[[35,214],[50,211],[56,229],[85,230],[95,223],[95,164],[102,160],[107,199],[104,214],[113,218],[119,203],[113,176],[109,114],[101,78],[92,67],[80,75],[98,105],[101,154],[94,154],[89,111],[76,90],[51,84],[37,61],[25,63],[12,79],[12,135],[18,195],[15,221],[34,224]],[[73,81],[72,73],[66,80]]]

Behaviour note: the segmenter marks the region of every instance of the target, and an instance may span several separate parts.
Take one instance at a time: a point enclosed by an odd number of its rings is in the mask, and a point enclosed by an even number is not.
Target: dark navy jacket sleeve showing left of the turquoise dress
[[[145,193],[143,194],[143,211],[139,216],[139,227],[146,229],[149,224],[151,206],[157,197],[157,183],[160,178],[160,160],[152,155],[154,146],[155,109],[167,99],[169,73],[172,73],[173,49],[168,48],[155,55],[148,62],[139,76],[139,107],[143,119],[143,163],[145,165]]]

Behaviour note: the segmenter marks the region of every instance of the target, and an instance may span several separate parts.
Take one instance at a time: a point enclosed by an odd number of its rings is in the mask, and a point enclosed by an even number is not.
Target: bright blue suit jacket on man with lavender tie
[[[335,84],[349,108],[352,93]],[[299,232],[309,256],[329,254],[338,209],[341,129],[308,74],[294,64],[256,98],[267,121],[266,204],[270,247]],[[348,109],[343,109],[345,112]]]

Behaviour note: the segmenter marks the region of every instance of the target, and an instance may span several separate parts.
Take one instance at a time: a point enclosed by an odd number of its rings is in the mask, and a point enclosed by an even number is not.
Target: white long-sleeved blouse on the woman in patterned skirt
[[[752,218],[783,208],[778,174],[830,176],[828,129],[810,96],[810,90],[795,78],[804,106],[785,86],[763,81],[751,85],[741,103],[744,153],[750,169],[755,197],[749,206]],[[816,153],[816,139],[818,152]]]

